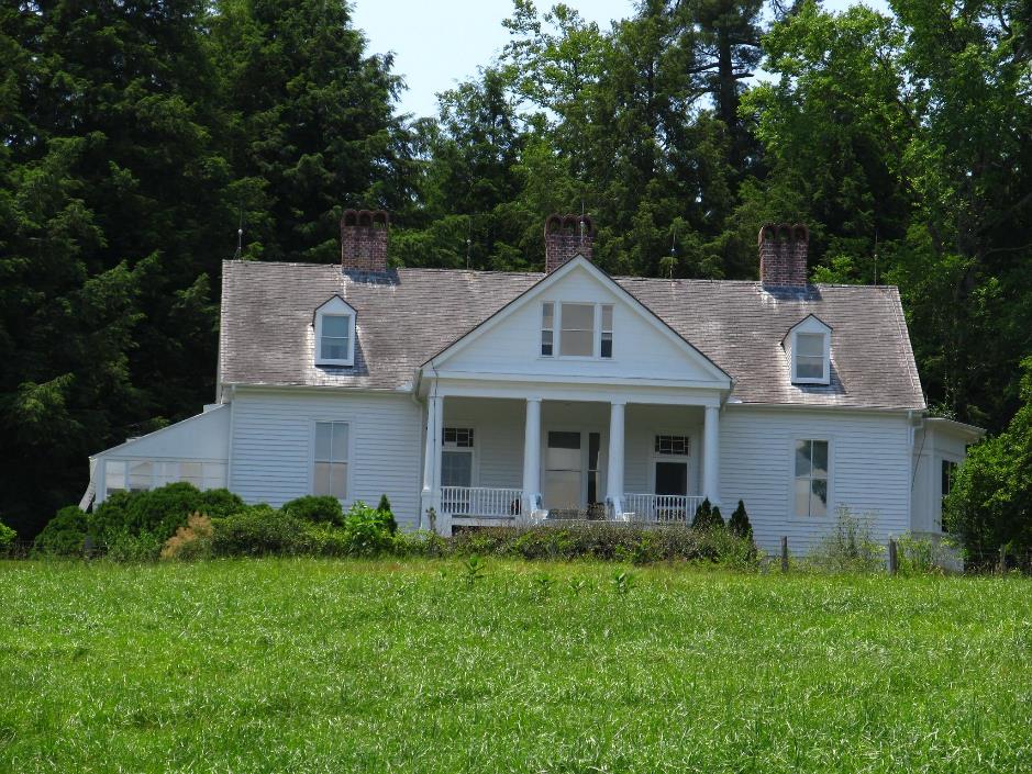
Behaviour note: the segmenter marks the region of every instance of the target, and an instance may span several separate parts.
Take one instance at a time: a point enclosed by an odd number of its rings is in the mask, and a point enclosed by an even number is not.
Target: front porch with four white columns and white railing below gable
[[[434,527],[558,519],[688,523],[719,503],[719,403],[429,396]]]

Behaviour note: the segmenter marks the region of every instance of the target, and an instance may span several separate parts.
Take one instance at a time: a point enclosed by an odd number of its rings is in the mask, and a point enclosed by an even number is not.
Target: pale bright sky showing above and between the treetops
[[[853,0],[824,0],[824,8],[841,10]],[[633,0],[565,0],[580,15],[603,30],[613,19],[633,12]],[[865,0],[886,10],[886,0]],[[503,19],[512,14],[512,0],[353,0],[355,26],[369,41],[370,52],[395,53],[393,71],[404,77],[402,112],[435,115],[436,94],[476,75],[509,41]],[[539,0],[539,9],[552,5]]]

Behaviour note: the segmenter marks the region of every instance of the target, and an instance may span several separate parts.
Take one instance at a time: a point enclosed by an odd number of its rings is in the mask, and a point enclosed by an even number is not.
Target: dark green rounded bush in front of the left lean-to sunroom
[[[113,492],[88,519],[88,531],[103,548],[125,536],[153,535],[164,543],[186,525],[192,513],[220,518],[244,509],[244,501],[228,490],[201,492],[178,482],[149,492]]]

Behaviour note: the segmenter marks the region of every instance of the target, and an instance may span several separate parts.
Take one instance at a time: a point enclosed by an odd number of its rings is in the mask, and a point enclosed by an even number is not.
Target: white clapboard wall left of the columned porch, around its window
[[[282,505],[312,493],[315,422],[349,425],[348,497],[390,498],[399,525],[419,515],[423,414],[410,395],[334,391],[237,392],[230,489],[248,503]]]

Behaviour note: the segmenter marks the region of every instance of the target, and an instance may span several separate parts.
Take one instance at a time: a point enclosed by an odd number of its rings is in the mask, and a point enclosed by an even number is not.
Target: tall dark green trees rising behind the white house
[[[898,284],[935,411],[1003,428],[1032,354],[1032,11],[1022,0],[642,0],[608,29],[514,0],[510,43],[400,112],[344,0],[0,8],[0,516],[214,393],[221,261],[333,261],[342,209],[404,266],[535,269],[589,212],[614,273],[748,279],[804,222],[811,276]]]

